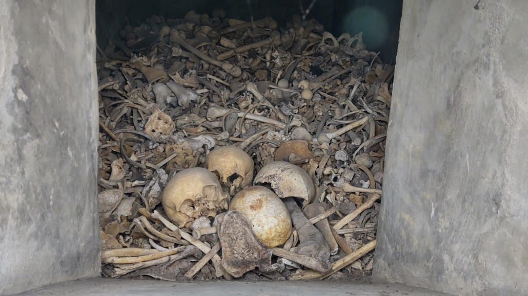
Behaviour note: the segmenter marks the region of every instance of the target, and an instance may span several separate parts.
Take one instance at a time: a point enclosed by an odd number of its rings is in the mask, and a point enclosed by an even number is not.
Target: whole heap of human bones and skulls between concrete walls
[[[394,67],[314,19],[212,15],[98,47],[103,274],[368,274]]]

